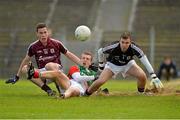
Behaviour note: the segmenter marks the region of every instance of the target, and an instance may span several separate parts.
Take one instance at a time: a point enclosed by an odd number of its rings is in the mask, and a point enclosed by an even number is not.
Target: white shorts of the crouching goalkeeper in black
[[[126,77],[127,76],[126,72],[134,64],[136,64],[134,60],[129,61],[128,64],[123,65],[123,66],[114,65],[113,63],[107,62],[105,65],[105,69],[110,69],[114,73],[115,76],[121,73],[123,77]]]

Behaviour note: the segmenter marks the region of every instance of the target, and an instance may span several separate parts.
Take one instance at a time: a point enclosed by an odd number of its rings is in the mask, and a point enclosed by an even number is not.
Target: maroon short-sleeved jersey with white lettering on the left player
[[[47,45],[44,46],[39,40],[30,44],[27,54],[35,56],[38,68],[44,68],[49,62],[58,63],[61,65],[61,53],[65,54],[67,49],[64,45],[55,39],[49,38]]]

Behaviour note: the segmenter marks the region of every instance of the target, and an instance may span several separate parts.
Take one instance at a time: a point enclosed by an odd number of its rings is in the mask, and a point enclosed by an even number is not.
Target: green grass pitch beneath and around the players
[[[55,89],[53,85],[51,85]],[[110,92],[135,92],[136,81],[108,81]],[[1,119],[178,119],[180,96],[110,95],[55,99],[24,80],[0,80]]]

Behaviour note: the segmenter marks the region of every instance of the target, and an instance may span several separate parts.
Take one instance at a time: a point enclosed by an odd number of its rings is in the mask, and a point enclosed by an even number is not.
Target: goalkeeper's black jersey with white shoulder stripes
[[[107,47],[102,48],[104,54],[108,54],[107,62],[111,62],[115,65],[126,65],[134,56],[141,58],[144,56],[143,51],[134,43],[131,43],[126,52],[122,52],[120,43],[115,43]]]

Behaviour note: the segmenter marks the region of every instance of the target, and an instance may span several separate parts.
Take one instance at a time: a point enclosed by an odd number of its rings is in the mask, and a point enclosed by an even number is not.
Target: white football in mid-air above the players
[[[80,25],[75,30],[75,38],[80,41],[86,41],[91,36],[91,30],[85,25]]]

